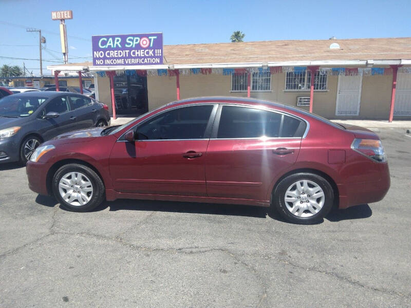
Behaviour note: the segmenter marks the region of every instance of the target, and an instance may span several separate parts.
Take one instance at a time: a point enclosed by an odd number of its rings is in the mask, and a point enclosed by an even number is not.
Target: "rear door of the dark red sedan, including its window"
[[[207,195],[269,200],[275,175],[295,163],[305,128],[283,113],[221,105],[207,148]]]

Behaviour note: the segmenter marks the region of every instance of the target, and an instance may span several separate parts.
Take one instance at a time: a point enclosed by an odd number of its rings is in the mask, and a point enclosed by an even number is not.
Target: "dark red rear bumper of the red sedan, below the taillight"
[[[362,182],[347,182],[338,185],[340,191],[339,208],[381,201],[390,186],[390,176],[387,163],[379,164],[379,176]]]

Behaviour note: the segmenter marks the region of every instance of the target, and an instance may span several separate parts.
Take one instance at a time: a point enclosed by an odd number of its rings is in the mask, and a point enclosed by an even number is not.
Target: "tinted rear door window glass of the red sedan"
[[[304,121],[273,111],[222,106],[218,139],[302,137]]]

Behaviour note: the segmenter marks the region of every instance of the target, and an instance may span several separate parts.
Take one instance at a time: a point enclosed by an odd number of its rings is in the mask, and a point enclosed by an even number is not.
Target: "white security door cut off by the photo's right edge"
[[[397,75],[394,115],[411,115],[411,74]]]

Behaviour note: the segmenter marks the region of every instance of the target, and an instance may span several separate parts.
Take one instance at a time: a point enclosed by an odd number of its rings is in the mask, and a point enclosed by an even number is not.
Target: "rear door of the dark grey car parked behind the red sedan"
[[[84,95],[68,94],[76,129],[93,127],[96,123],[97,108],[90,98]]]

